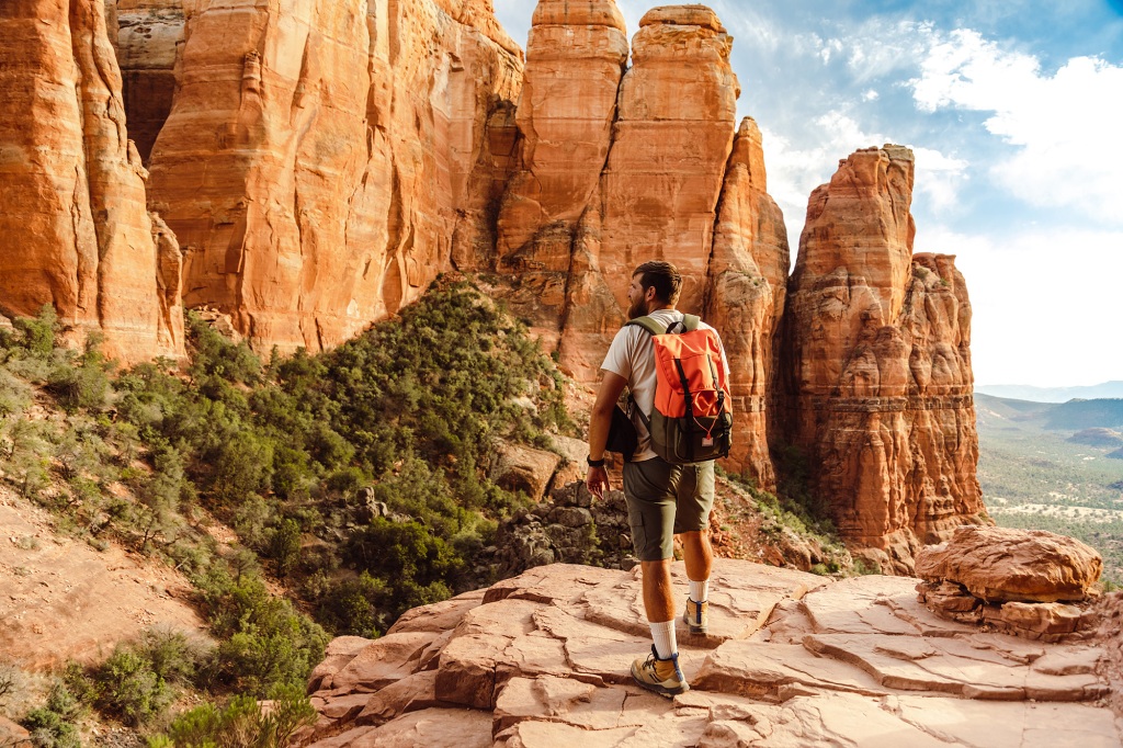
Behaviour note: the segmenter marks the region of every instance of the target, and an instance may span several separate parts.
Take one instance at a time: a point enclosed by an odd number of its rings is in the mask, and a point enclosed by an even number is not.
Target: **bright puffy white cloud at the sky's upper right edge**
[[[1123,225],[1123,67],[1075,57],[1049,75],[1037,57],[958,29],[933,37],[910,84],[922,111],[992,113],[987,130],[1017,148],[992,175],[1017,198]]]

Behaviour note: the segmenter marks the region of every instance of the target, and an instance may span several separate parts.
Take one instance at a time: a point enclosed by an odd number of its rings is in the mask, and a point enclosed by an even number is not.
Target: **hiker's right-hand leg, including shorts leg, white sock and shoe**
[[[683,468],[676,495],[675,531],[683,542],[690,594],[683,622],[691,633],[710,630],[710,572],[713,547],[710,545],[710,511],[713,509],[713,463]]]

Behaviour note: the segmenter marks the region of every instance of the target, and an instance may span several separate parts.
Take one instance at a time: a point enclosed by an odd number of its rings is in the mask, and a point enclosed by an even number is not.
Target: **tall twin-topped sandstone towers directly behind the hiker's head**
[[[676,263],[679,305],[729,338],[743,414],[730,465],[774,487],[765,413],[787,236],[751,119],[734,147],[732,42],[707,8],[658,8],[640,21],[621,77],[623,33],[612,0],[539,2],[496,268],[518,279],[509,301],[562,367],[592,382],[623,321],[631,270]]]

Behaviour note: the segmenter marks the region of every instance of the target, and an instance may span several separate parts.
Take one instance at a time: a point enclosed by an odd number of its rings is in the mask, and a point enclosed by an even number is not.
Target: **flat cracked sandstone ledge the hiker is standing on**
[[[650,646],[637,576],[558,565],[334,641],[301,745],[1119,745],[1098,647],[944,621],[913,580],[714,572],[711,633],[681,632],[692,690],[673,701],[628,674]],[[674,581],[685,595],[681,565]]]

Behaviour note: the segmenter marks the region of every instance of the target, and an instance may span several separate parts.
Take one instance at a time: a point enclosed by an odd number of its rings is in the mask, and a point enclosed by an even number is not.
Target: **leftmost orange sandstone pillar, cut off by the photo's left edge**
[[[157,291],[179,254],[154,239],[102,0],[6,3],[0,40],[0,309],[54,304],[125,362],[182,355]]]

